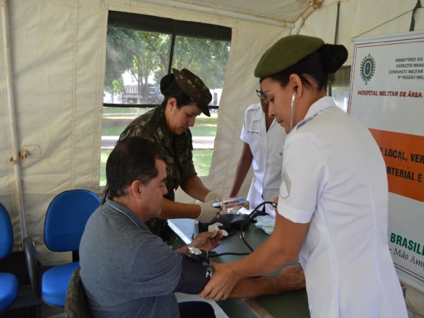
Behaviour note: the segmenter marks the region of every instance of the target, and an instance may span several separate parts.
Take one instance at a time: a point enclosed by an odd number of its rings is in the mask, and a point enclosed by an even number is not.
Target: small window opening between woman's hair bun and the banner
[[[347,112],[349,105],[350,70],[352,66],[342,66],[330,80],[328,94],[334,98],[336,105]]]

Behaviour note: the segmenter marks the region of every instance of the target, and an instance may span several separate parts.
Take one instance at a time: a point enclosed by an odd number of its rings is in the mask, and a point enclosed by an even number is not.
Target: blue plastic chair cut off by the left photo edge
[[[0,203],[0,259],[8,256],[13,249],[12,223],[8,211]],[[18,278],[10,273],[0,273],[0,312],[9,308],[18,295]]]

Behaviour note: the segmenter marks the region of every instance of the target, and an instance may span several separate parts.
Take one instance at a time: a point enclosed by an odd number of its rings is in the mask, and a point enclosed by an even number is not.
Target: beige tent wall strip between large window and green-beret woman
[[[228,61],[223,96],[221,99],[218,131],[215,138],[209,177],[204,183],[226,197],[230,194],[243,142],[240,140],[244,112],[253,103],[258,103],[254,68],[263,52],[291,29],[270,27],[260,23],[239,21],[233,30],[230,59]],[[266,35],[266,36],[265,36]],[[246,177],[239,195],[246,198],[252,174]]]

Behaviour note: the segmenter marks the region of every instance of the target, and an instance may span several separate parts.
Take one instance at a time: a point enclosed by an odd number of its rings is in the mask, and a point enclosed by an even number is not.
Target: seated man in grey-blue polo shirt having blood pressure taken
[[[81,280],[94,318],[215,317],[206,302],[178,304],[174,295],[200,293],[213,267],[189,259],[183,254],[187,246],[170,249],[144,224],[161,212],[165,159],[158,146],[140,137],[118,142],[107,159],[110,196],[88,220],[79,249]],[[222,233],[202,233],[190,246],[210,251],[220,239]],[[300,266],[287,267],[278,278],[246,278],[232,296],[300,289],[304,275],[299,271]]]

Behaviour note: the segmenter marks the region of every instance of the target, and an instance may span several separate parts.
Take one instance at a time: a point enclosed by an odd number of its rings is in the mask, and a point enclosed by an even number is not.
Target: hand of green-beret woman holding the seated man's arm
[[[207,300],[215,300],[215,302],[226,300],[240,277],[237,275],[237,271],[231,269],[230,264],[213,263],[213,268],[215,274],[199,296]]]

